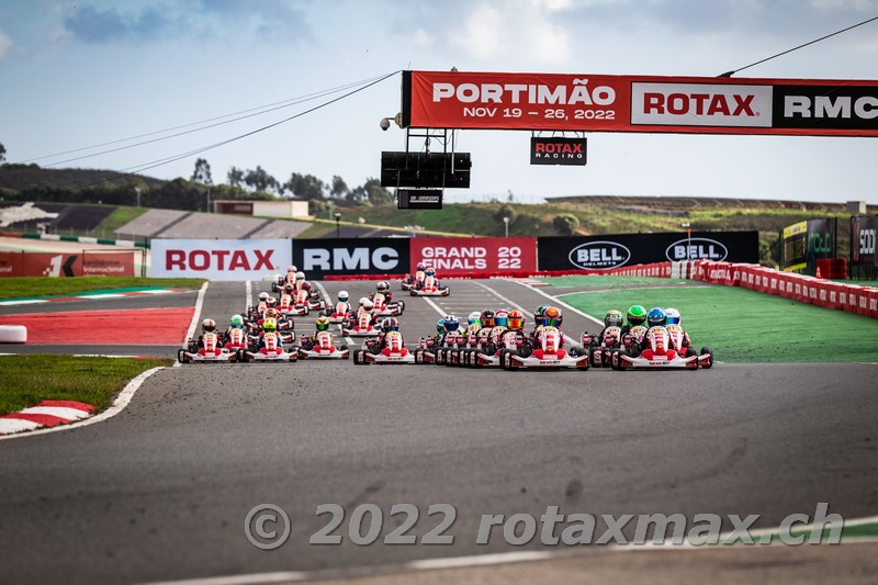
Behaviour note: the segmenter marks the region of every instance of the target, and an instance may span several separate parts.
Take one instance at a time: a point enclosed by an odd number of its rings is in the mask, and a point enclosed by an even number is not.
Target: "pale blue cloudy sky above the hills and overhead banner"
[[[32,160],[399,69],[712,77],[875,15],[878,0],[5,0],[0,143],[9,161]],[[877,79],[878,21],[736,77]],[[61,166],[135,167],[337,95]],[[379,127],[397,111],[398,75],[200,156],[215,182],[232,166],[261,165],[281,182],[339,175],[354,187],[379,176],[382,150],[404,148],[404,131]],[[878,138],[593,133],[586,167],[532,167],[529,139],[461,132],[458,147],[473,160],[461,194],[878,203]],[[195,158],[146,173],[189,178]]]

